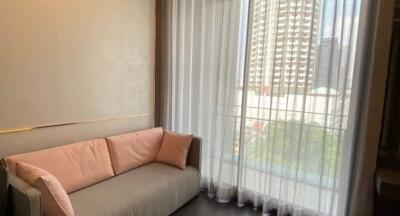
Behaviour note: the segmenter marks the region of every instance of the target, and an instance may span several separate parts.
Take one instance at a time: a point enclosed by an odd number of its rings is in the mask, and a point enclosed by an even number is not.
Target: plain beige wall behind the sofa
[[[0,130],[146,114],[0,134],[0,157],[152,127],[154,60],[153,0],[0,1]]]

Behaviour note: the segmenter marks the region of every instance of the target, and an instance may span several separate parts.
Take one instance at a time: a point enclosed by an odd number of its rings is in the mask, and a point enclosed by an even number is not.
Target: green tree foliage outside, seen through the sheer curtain
[[[315,122],[275,121],[258,129],[247,128],[245,154],[250,160],[279,166],[287,172],[300,169],[333,177],[340,168],[343,139],[339,136],[343,137],[338,129]]]

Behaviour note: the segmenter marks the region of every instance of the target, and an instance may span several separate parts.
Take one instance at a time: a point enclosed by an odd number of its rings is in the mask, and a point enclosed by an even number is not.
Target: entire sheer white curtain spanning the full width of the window
[[[211,197],[344,214],[360,3],[168,0],[162,125],[203,138]]]

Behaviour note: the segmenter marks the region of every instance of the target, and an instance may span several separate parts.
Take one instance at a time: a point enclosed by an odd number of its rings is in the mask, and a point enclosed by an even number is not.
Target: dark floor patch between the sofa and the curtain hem
[[[259,216],[260,211],[253,211],[251,206],[237,207],[235,202],[223,204],[209,199],[207,193],[201,192],[172,216]]]

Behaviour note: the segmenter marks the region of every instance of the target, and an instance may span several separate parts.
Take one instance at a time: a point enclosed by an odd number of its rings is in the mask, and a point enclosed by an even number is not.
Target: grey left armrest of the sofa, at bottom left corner
[[[22,179],[9,175],[8,215],[41,216],[40,191]]]

